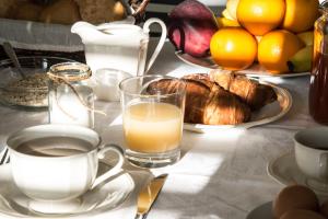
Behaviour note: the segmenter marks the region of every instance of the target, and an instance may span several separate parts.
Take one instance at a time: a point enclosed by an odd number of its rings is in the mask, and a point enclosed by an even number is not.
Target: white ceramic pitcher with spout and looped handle
[[[160,42],[153,55],[147,60],[150,25],[159,23],[162,27]],[[160,19],[149,19],[143,28],[133,24],[102,24],[94,26],[87,22],[78,22],[72,28],[82,38],[85,50],[86,64],[93,72],[97,69],[110,68],[119,69],[139,76],[147,72],[166,38],[166,25]]]

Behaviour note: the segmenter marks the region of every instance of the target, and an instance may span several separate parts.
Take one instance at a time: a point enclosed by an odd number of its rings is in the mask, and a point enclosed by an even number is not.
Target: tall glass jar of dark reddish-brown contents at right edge
[[[316,122],[328,124],[328,8],[325,3],[321,16],[315,22],[308,107]]]

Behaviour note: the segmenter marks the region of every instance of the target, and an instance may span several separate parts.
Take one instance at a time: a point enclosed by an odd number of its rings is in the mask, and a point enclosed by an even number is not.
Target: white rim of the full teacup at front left
[[[77,128],[77,129],[84,129],[84,130],[87,130],[87,131],[91,131],[91,132],[94,132],[96,136],[97,136],[97,143],[96,145],[93,145],[92,149],[91,150],[87,150],[85,152],[81,152],[81,153],[77,153],[77,154],[72,154],[72,155],[61,155],[61,157],[43,157],[43,155],[33,155],[33,154],[27,154],[27,153],[23,153],[23,152],[20,152],[17,151],[15,148],[11,147],[9,145],[9,141],[11,139],[14,138],[14,136],[17,136],[20,134],[22,134],[23,131],[26,131],[28,129],[33,129],[33,128],[42,128],[42,127],[66,127],[66,128]],[[67,135],[69,136],[69,135]],[[67,159],[67,158],[77,158],[77,157],[81,157],[81,155],[85,155],[87,153],[91,153],[95,150],[98,149],[98,147],[101,146],[102,143],[102,137],[93,129],[91,128],[86,128],[86,127],[83,127],[83,126],[77,126],[77,125],[67,125],[67,124],[44,124],[44,125],[36,125],[36,126],[28,126],[28,127],[25,127],[25,128],[22,128],[20,130],[16,130],[14,132],[12,132],[11,135],[9,135],[9,137],[7,138],[5,140],[5,145],[9,149],[9,151],[14,151],[15,153],[20,154],[20,155],[24,155],[24,157],[30,157],[30,158],[38,158],[38,159]]]

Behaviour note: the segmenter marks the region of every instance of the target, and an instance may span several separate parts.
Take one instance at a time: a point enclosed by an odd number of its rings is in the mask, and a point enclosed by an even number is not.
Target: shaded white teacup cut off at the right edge
[[[301,130],[295,134],[294,143],[296,163],[308,177],[307,184],[328,185],[328,127]]]

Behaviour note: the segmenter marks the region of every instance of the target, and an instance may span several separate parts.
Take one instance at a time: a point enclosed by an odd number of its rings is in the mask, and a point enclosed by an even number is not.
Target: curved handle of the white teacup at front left
[[[97,152],[97,157],[99,160],[105,158],[105,153],[107,151],[113,151],[115,153],[117,153],[118,155],[118,162],[112,168],[109,169],[107,172],[105,172],[103,175],[99,175],[98,177],[95,178],[93,185],[91,186],[91,189],[93,189],[94,187],[96,187],[97,185],[99,185],[101,183],[103,183],[104,181],[106,181],[107,178],[109,178],[110,176],[115,175],[122,166],[125,158],[124,158],[124,150],[114,143],[108,143],[103,146],[103,148]]]

